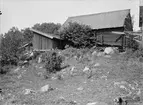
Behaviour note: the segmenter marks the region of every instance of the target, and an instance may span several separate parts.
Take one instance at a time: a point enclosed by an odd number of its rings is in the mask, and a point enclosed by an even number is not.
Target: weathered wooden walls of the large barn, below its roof
[[[129,40],[123,34],[114,34],[112,32],[133,31],[130,14],[124,20],[123,27],[115,27],[108,29],[97,30],[97,41],[101,45],[121,46],[126,47]]]

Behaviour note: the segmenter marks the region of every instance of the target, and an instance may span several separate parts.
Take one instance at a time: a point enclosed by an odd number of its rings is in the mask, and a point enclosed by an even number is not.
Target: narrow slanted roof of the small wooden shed
[[[53,39],[53,38],[60,39],[60,36],[58,36],[58,35],[43,33],[41,31],[38,31],[38,30],[35,30],[35,29],[30,29],[30,30],[33,31],[33,32],[35,32],[35,33],[38,33],[39,35],[48,37],[50,39]]]

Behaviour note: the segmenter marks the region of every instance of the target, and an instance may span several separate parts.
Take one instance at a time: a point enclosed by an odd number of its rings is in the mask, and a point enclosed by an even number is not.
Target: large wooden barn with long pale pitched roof
[[[101,46],[125,47],[124,32],[133,31],[130,9],[69,17],[62,27],[68,26],[69,22],[89,25]]]

